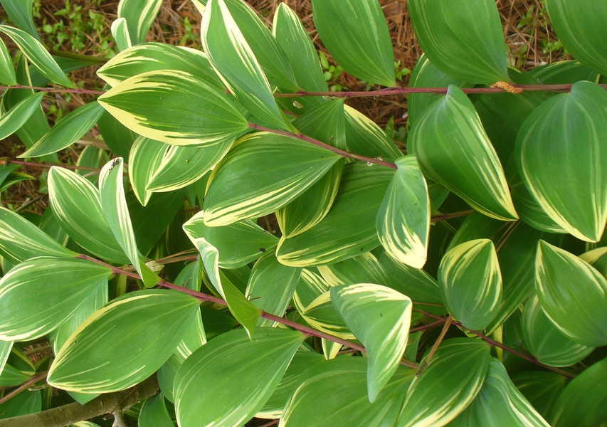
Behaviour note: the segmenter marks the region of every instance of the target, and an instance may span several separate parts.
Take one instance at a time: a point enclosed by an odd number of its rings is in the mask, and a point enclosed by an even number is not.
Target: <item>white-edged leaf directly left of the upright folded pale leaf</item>
[[[48,172],[48,195],[61,228],[78,245],[113,263],[129,262],[105,219],[99,190],[88,179],[53,167]]]

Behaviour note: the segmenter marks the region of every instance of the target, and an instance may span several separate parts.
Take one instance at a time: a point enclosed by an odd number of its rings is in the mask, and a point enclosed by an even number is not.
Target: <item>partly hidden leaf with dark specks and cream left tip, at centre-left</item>
[[[204,224],[204,216],[204,211],[193,216],[184,223],[184,230],[192,242],[196,238],[204,238],[217,248],[221,268],[233,269],[247,265],[278,245],[278,238],[258,226],[255,221],[209,227]]]

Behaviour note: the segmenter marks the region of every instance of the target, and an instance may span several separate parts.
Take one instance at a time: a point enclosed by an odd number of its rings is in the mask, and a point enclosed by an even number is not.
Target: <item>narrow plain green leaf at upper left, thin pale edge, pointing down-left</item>
[[[41,157],[69,147],[95,126],[102,113],[103,108],[97,101],[79,107],[65,116],[42,139],[18,157]]]

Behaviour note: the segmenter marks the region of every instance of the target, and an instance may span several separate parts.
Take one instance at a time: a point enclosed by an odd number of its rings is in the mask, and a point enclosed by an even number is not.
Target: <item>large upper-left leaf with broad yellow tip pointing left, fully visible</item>
[[[122,125],[167,144],[209,146],[247,128],[225,93],[179,70],[135,75],[98,100]]]

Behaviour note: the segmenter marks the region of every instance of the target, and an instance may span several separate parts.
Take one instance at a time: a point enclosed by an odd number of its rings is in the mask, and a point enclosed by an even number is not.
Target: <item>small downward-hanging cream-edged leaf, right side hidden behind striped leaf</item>
[[[158,170],[167,148],[164,142],[146,137],[135,139],[129,154],[129,178],[133,192],[142,206],[147,205],[152,191],[147,190],[149,181]]]

